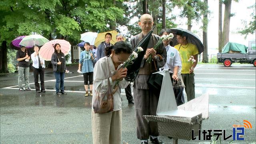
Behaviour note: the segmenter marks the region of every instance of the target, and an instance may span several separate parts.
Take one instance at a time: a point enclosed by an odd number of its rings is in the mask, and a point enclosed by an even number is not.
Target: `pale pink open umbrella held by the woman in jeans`
[[[39,50],[39,55],[44,58],[46,61],[50,61],[52,58],[52,54],[54,53],[54,45],[60,44],[61,52],[65,54],[65,56],[71,50],[71,44],[66,40],[51,40],[50,42],[46,42]]]

